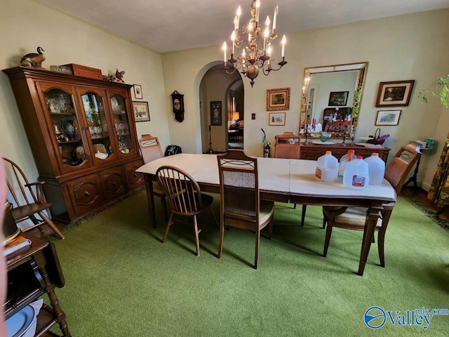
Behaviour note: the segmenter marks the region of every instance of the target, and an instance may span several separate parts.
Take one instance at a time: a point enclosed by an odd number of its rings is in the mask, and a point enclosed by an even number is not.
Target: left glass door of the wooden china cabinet
[[[43,92],[43,98],[48,109],[51,122],[51,138],[59,153],[58,160],[63,172],[74,171],[79,166],[90,166],[91,161],[86,157],[86,146],[80,130],[82,122],[76,114],[73,89],[46,88],[47,84],[38,84]]]

